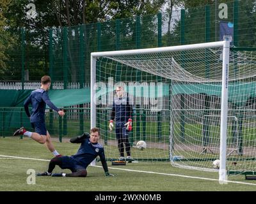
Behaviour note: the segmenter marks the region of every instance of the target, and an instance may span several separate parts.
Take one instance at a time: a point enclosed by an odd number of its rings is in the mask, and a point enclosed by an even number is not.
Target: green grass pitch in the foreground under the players
[[[63,155],[75,154],[79,145],[54,142]],[[0,138],[0,191],[255,191],[256,181],[244,176],[228,177],[226,185],[218,183],[218,173],[175,168],[168,162],[128,163],[111,166],[115,177],[105,177],[101,163],[88,166],[86,178],[36,177],[36,184],[26,180],[28,169],[36,172],[47,170],[48,161],[14,157],[51,159],[52,154],[35,141],[24,138]],[[55,168],[55,172],[68,172]],[[212,180],[211,180],[212,179]],[[124,187],[125,184],[125,187]]]

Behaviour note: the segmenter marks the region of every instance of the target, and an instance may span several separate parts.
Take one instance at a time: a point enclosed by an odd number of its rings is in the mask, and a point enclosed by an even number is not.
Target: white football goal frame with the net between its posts
[[[143,94],[137,91],[134,92],[136,88],[136,81],[138,78],[140,80],[140,88],[143,87],[143,81],[146,81],[148,84],[151,82],[157,82],[157,77],[161,78],[161,87],[163,90],[157,89],[154,86],[153,92],[163,92],[162,93],[162,101],[164,104],[168,104],[168,110],[161,110],[161,118],[166,120],[161,120],[161,127],[159,126],[159,122],[156,121],[157,117],[155,117],[154,112],[158,111],[157,109],[150,110],[152,112],[152,119],[148,116],[146,108],[136,108],[136,122],[132,121],[132,124],[136,124],[136,128],[132,129],[132,141],[138,141],[141,139],[138,136],[138,132],[141,131],[142,138],[144,136],[146,142],[148,141],[149,146],[151,145],[154,149],[164,149],[164,147],[168,146],[168,159],[172,161],[174,166],[179,166],[181,168],[193,168],[199,170],[210,170],[212,168],[209,161],[212,161],[214,157],[209,158],[199,158],[198,155],[202,151],[201,146],[198,146],[200,140],[198,130],[200,129],[197,126],[201,125],[200,119],[202,119],[202,111],[198,109],[195,114],[201,114],[201,116],[196,116],[193,113],[193,110],[186,110],[184,107],[180,106],[181,103],[174,104],[173,101],[177,101],[177,94],[200,94],[201,89],[205,88],[207,91],[210,90],[214,92],[214,86],[216,84],[221,84],[221,124],[220,124],[220,170],[219,170],[219,180],[220,184],[225,183],[227,180],[227,169],[226,169],[226,152],[227,152],[227,115],[228,115],[228,64],[229,64],[229,50],[230,50],[230,41],[226,38],[224,41],[217,41],[212,43],[200,43],[194,45],[180,45],[173,47],[161,47],[161,48],[146,48],[146,49],[138,49],[138,50],[118,50],[118,51],[109,51],[109,52],[93,52],[91,54],[91,128],[97,126],[99,124],[102,126],[104,142],[105,144],[108,142],[108,135],[114,134],[109,133],[108,131],[108,120],[110,119],[109,108],[111,107],[111,103],[109,104],[100,104],[97,103],[97,99],[101,98],[102,101],[111,101],[111,97],[103,96],[102,94],[97,95],[97,91],[104,94],[108,94],[109,92],[115,91],[115,87],[113,85],[104,85],[101,80],[104,82],[108,81],[108,77],[113,77],[114,82],[121,83],[120,80],[116,79],[116,75],[118,78],[124,79],[124,84],[129,84],[129,82],[134,82],[133,86],[127,87],[129,94],[133,94],[134,98],[147,98],[147,100],[151,100],[150,96],[142,96],[145,92],[152,91],[152,86],[149,86],[148,89],[143,88]],[[213,50],[213,51],[212,51]],[[221,55],[219,51],[221,50]],[[208,57],[205,57],[205,53],[211,52]],[[181,54],[182,53],[182,54]],[[204,57],[200,57],[200,55],[204,55]],[[221,59],[220,59],[221,56]],[[184,58],[182,58],[184,57]],[[209,59],[208,67],[210,66],[212,69],[212,77],[207,78],[205,74],[199,74],[202,71],[202,68],[205,69],[205,59]],[[197,67],[196,63],[198,63]],[[220,66],[222,64],[222,66]],[[216,70],[214,70],[214,66],[216,66]],[[222,74],[220,69],[222,68]],[[196,70],[198,68],[198,70]],[[99,70],[98,70],[99,69]],[[191,72],[191,70],[193,70]],[[120,71],[120,72],[119,72]],[[141,75],[141,72],[143,73]],[[120,75],[119,75],[120,74]],[[157,77],[156,77],[157,76]],[[172,82],[172,83],[170,83]],[[101,84],[100,84],[101,83]],[[169,83],[169,84],[168,84]],[[160,83],[159,83],[160,84]],[[170,85],[171,84],[171,85]],[[158,84],[157,84],[158,85]],[[193,91],[189,85],[194,86],[198,91]],[[159,85],[160,86],[160,85]],[[100,88],[99,88],[100,87]],[[218,87],[219,89],[220,87]],[[141,88],[142,89],[142,88]],[[172,90],[170,90],[172,89]],[[209,90],[208,90],[209,89]],[[146,90],[146,91],[145,91]],[[166,95],[164,95],[166,94]],[[175,95],[176,94],[176,95]],[[129,95],[130,96],[130,95]],[[183,95],[182,95],[183,96]],[[153,97],[154,99],[156,97]],[[193,98],[193,97],[192,97]],[[172,101],[169,101],[171,100]],[[179,98],[180,99],[180,98]],[[156,99],[157,100],[157,99]],[[187,98],[185,100],[188,100]],[[98,101],[99,102],[99,101]],[[189,101],[185,101],[188,103]],[[184,103],[185,103],[184,102]],[[113,101],[112,101],[113,103]],[[183,108],[180,110],[176,107]],[[196,102],[193,105],[197,105]],[[185,105],[187,106],[187,105]],[[99,110],[99,111],[98,111]],[[183,111],[183,113],[182,113]],[[168,112],[168,115],[166,115]],[[99,114],[99,116],[97,116]],[[183,117],[182,117],[183,114]],[[186,115],[187,114],[187,115]],[[143,117],[144,115],[144,117]],[[201,117],[200,119],[196,119],[196,117]],[[139,119],[143,121],[140,123]],[[167,121],[168,119],[168,121]],[[99,121],[98,121],[99,120]],[[145,120],[145,121],[144,121]],[[182,120],[182,122],[179,122]],[[193,120],[195,125],[186,124],[186,120]],[[143,123],[144,122],[144,123]],[[166,122],[166,124],[164,123]],[[149,124],[145,128],[145,124]],[[179,124],[179,125],[178,125]],[[142,128],[140,127],[143,126]],[[157,134],[161,135],[161,133],[155,134],[155,126],[158,126],[159,131],[161,128],[167,129],[168,126],[168,142],[161,140],[159,138],[154,138]],[[179,127],[182,127],[179,129]],[[189,127],[189,128],[188,128]],[[145,128],[145,129],[143,129]],[[195,138],[193,136],[185,133],[184,130],[188,128],[190,132],[193,132]],[[183,131],[183,133],[182,133]],[[192,134],[192,133],[191,133]],[[192,135],[193,135],[192,134]],[[180,135],[191,137],[189,140],[180,139]],[[146,138],[148,137],[148,138]],[[147,140],[148,139],[148,140]],[[198,141],[199,142],[198,142]],[[160,141],[159,144],[156,144],[156,141]],[[110,142],[111,143],[111,142]],[[132,143],[132,142],[131,142]],[[111,143],[111,145],[116,147],[116,143]],[[195,150],[196,149],[196,150]],[[112,149],[111,149],[112,150]],[[191,150],[190,156],[193,158],[189,160],[189,155],[184,157],[180,156],[180,154],[186,154],[186,150]],[[114,150],[113,150],[114,151]],[[133,151],[133,150],[132,150]],[[134,150],[135,151],[135,150]],[[147,149],[144,151],[146,152]],[[161,150],[163,152],[163,150]],[[136,152],[136,154],[141,154],[140,152]],[[159,154],[161,154],[160,150],[152,151],[150,154],[156,154],[154,157],[157,158]],[[113,152],[113,155],[117,155],[117,153]],[[145,153],[143,153],[145,156]],[[137,156],[137,155],[136,155]],[[148,155],[147,155],[148,156]],[[219,157],[218,156],[218,157]],[[198,158],[196,158],[198,157]],[[175,158],[175,159],[173,159]],[[183,160],[182,160],[183,159]],[[208,160],[207,160],[208,159]],[[202,161],[202,164],[195,164],[194,161]],[[179,162],[175,161],[186,161],[186,164],[179,164]],[[203,164],[204,163],[204,164]],[[197,165],[197,166],[196,166]]]

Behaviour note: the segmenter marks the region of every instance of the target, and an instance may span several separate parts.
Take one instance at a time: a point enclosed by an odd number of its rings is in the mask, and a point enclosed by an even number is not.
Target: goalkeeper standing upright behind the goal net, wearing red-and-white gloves
[[[116,95],[114,97],[111,119],[109,121],[109,129],[113,129],[113,121],[115,119],[115,133],[118,142],[118,150],[120,160],[124,160],[124,145],[127,159],[131,157],[131,144],[129,142],[129,132],[132,130],[132,105],[129,104],[127,94],[124,94],[124,87],[116,87]]]

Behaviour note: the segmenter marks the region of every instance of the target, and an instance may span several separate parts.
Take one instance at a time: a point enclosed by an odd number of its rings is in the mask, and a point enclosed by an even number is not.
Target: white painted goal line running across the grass
[[[15,156],[6,156],[6,155],[0,155],[0,157],[10,157],[10,158],[17,158],[17,159],[29,159],[29,160],[36,160],[36,161],[50,161],[49,159],[36,159],[36,158],[29,158],[29,157],[15,157]],[[95,166],[95,167],[102,168],[102,166]],[[134,172],[139,172],[139,173],[152,173],[152,174],[158,174],[158,175],[168,175],[168,176],[173,176],[173,177],[183,177],[183,178],[189,178],[189,179],[219,181],[218,179],[209,179],[209,178],[204,178],[204,177],[192,177],[192,176],[179,175],[179,174],[173,174],[173,173],[160,173],[160,172],[155,172],[155,171],[129,170],[129,169],[124,169],[124,168],[113,168],[113,167],[108,167],[108,168],[112,169],[112,170],[134,171]],[[224,182],[256,186],[256,184],[233,181],[233,180],[224,180]]]

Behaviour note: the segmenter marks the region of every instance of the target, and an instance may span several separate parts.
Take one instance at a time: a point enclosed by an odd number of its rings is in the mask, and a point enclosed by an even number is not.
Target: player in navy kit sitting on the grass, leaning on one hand
[[[49,168],[44,173],[38,173],[38,176],[52,177],[86,177],[87,166],[97,157],[100,156],[102,167],[106,176],[113,176],[108,172],[108,164],[106,163],[104,149],[98,143],[100,133],[98,128],[92,128],[89,133],[84,133],[70,139],[71,143],[81,143],[77,153],[73,156],[54,157],[49,163]],[[60,166],[61,169],[69,169],[72,173],[52,173],[55,166]]]

